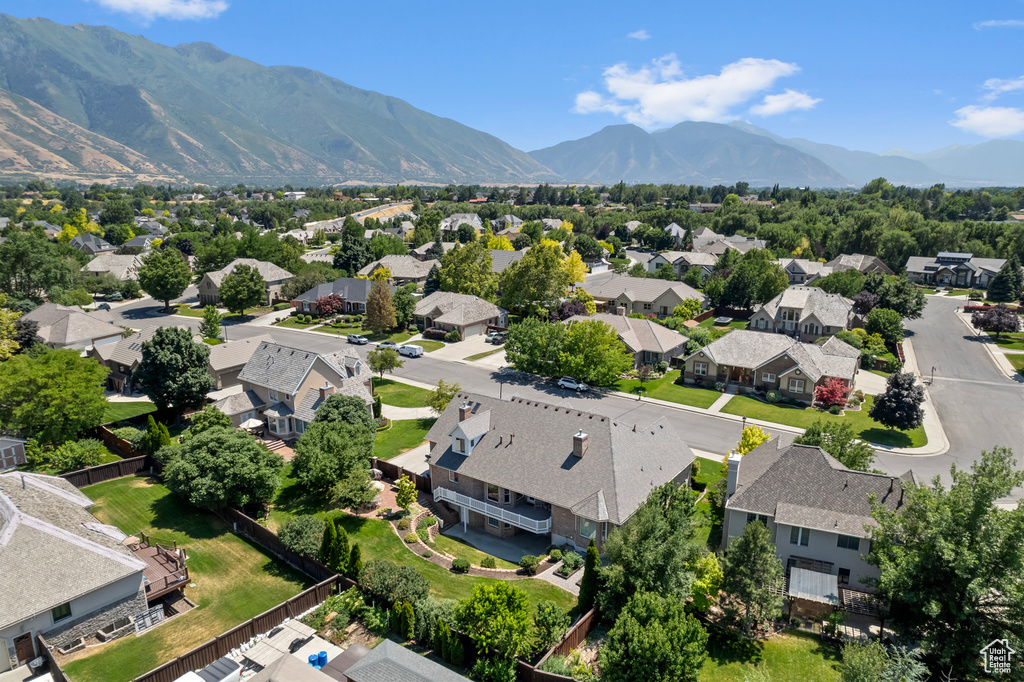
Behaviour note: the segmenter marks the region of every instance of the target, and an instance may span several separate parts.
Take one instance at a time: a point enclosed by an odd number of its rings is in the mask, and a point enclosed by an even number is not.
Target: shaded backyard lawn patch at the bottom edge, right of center
[[[708,639],[708,659],[700,670],[701,681],[746,682],[758,668],[769,680],[840,679],[840,652],[816,635],[787,632],[762,642],[726,639],[716,632]]]

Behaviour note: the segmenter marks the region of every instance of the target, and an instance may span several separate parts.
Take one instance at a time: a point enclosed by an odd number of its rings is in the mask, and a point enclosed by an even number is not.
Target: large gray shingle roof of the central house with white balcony
[[[489,413],[489,430],[469,456],[452,451],[450,434],[459,407]],[[588,434],[582,459],[572,436]],[[606,516],[623,523],[653,487],[672,480],[693,461],[693,453],[664,419],[649,426],[625,424],[570,407],[513,397],[508,400],[459,393],[427,433],[435,443],[431,461],[444,469],[571,509],[597,509],[601,493]],[[594,498],[593,502],[588,502]]]

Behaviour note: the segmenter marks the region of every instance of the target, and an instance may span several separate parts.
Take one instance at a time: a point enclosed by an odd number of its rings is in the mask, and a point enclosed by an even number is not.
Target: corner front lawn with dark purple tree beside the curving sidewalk
[[[893,447],[921,447],[928,444],[928,436],[925,429],[918,427],[912,431],[890,431],[873,419],[867,416],[874,398],[870,395],[866,397],[861,409],[856,412],[847,412],[844,417],[829,415],[812,408],[795,408],[790,406],[768,404],[761,400],[755,400],[745,395],[737,395],[729,400],[722,412],[730,415],[740,415],[751,419],[760,419],[776,424],[786,424],[798,428],[806,429],[819,419],[828,422],[845,421],[853,427],[858,438],[867,442],[880,445],[890,445]]]

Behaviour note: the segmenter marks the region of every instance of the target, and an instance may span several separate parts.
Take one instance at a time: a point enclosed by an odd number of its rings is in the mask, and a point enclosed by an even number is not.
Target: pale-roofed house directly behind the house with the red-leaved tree
[[[749,329],[810,342],[862,325],[850,299],[817,287],[790,287],[754,312]]]

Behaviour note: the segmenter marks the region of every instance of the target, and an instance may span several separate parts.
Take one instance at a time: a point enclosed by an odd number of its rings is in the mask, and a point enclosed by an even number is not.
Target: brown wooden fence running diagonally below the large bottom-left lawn
[[[214,660],[226,656],[231,649],[240,647],[253,637],[269,632],[281,625],[285,619],[294,619],[299,613],[309,610],[323,603],[336,592],[344,592],[355,583],[343,576],[334,576],[301,592],[288,601],[264,611],[254,619],[232,628],[222,635],[214,637],[205,644],[200,644],[191,651],[182,653],[160,668],[136,677],[134,682],[174,682],[185,673],[206,668]]]

